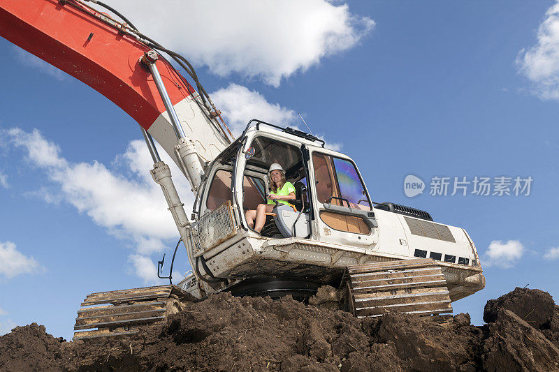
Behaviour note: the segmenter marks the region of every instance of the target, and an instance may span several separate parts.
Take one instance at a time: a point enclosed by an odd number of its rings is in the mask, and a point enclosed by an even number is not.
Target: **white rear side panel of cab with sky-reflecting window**
[[[326,150],[310,155],[314,238],[349,246],[371,246],[378,224],[367,189],[351,159]]]

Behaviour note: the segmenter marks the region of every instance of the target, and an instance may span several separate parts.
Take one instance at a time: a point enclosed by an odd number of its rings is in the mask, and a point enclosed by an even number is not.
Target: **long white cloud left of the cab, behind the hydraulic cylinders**
[[[28,133],[13,128],[6,133],[11,143],[26,151],[27,161],[44,170],[50,181],[60,188],[56,197],[50,192],[41,192],[41,188],[34,195],[43,197],[46,202],[60,198],[72,204],[116,237],[133,241],[135,251],[140,255],[161,251],[166,248],[167,239],[178,237],[161,187],[150,175],[152,160],[143,141],[130,142],[126,152],[112,163],[117,169],[111,170],[97,161],[67,161],[61,156],[59,147],[37,130]],[[164,151],[159,154],[170,166],[177,191],[188,208],[194,202],[194,195],[187,181]],[[136,265],[137,260],[131,260],[131,263],[138,269],[136,274],[144,278],[145,265]]]

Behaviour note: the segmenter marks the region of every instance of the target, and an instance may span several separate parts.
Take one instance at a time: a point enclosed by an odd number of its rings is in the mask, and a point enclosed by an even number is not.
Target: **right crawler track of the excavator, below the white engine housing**
[[[351,312],[358,318],[398,312],[451,313],[449,290],[435,260],[412,259],[347,267]]]

